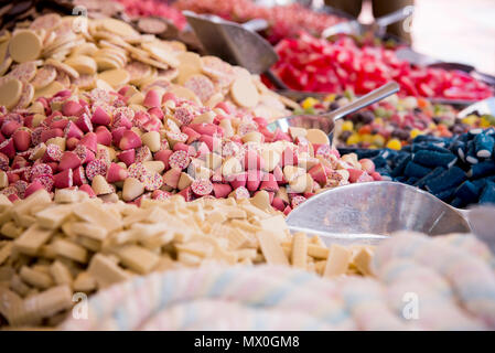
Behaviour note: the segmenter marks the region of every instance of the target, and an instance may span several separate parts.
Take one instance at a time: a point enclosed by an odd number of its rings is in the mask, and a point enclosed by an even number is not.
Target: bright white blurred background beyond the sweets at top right
[[[495,0],[416,0],[412,47],[495,74]],[[370,1],[359,20],[373,20]]]

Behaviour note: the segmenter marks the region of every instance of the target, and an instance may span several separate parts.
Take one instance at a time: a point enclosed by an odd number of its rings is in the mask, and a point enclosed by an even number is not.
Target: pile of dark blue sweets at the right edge
[[[353,150],[383,175],[431,192],[455,207],[495,203],[495,129],[452,138],[419,136],[401,151]],[[343,152],[351,150],[343,149]]]

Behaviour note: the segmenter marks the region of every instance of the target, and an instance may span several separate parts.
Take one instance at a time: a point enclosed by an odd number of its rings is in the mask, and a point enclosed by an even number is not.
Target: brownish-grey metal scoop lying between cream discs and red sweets
[[[183,11],[183,14],[208,54],[243,66],[252,74],[265,74],[277,88],[288,88],[270,71],[279,56],[271,44],[254,31],[262,25],[259,21],[250,21],[245,26],[216,15],[192,11]]]

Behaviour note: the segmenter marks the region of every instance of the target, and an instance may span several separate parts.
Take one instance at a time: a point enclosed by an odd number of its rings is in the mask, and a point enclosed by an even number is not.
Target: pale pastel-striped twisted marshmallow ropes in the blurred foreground
[[[89,299],[62,330],[493,330],[493,255],[474,237],[400,234],[376,278],[273,266],[153,274]]]

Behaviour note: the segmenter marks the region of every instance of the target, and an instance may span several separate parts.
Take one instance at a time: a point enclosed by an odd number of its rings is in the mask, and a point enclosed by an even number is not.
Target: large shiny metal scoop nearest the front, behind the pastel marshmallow
[[[494,214],[487,217],[486,210]],[[329,244],[373,245],[397,231],[430,236],[475,232],[485,234],[495,250],[494,216],[495,208],[459,210],[418,188],[380,181],[322,192],[294,208],[287,224],[292,232],[318,234]]]

